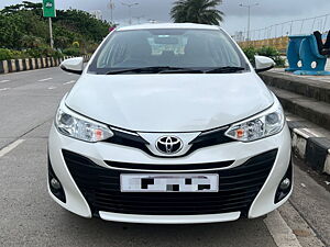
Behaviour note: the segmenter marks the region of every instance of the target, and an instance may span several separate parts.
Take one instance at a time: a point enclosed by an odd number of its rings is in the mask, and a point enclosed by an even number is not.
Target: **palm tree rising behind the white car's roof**
[[[222,0],[177,0],[170,10],[174,22],[219,25],[223,12],[217,10]]]

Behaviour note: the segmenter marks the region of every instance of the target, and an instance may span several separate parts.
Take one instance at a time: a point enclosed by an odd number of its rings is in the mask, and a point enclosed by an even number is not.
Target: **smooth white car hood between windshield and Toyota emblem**
[[[256,114],[274,102],[254,72],[84,74],[66,105],[90,119],[138,132],[198,132]]]

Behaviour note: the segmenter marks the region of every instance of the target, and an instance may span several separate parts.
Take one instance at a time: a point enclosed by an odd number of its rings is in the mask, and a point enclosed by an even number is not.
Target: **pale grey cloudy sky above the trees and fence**
[[[40,2],[41,0],[31,0]],[[55,0],[55,5],[58,9],[81,9],[86,11],[101,10],[102,16],[110,21],[110,9],[107,8],[110,0]],[[113,19],[121,25],[129,23],[129,9],[122,2],[134,3],[139,5],[132,7],[133,23],[147,20],[156,20],[157,22],[169,22],[169,11],[175,0],[112,0],[114,3]],[[21,0],[0,0],[0,9],[4,5],[15,4]],[[329,14],[328,18],[318,18],[300,22],[294,22],[293,32],[309,33],[316,29],[330,29],[330,0],[223,0],[219,5],[219,10],[223,11],[224,22],[221,24],[230,34],[237,31],[246,32],[248,30],[248,8],[241,8],[243,4],[258,5],[251,8],[251,30],[264,29],[270,25],[283,23],[290,20],[314,18],[318,15]],[[312,25],[314,24],[314,25]],[[301,29],[302,26],[302,29]],[[290,24],[278,25],[267,31],[253,31],[252,36],[263,35],[280,35],[280,33],[289,32]],[[271,33],[272,32],[272,33]]]

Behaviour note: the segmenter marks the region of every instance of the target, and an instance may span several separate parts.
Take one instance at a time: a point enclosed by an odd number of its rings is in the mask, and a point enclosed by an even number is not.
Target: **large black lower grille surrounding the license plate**
[[[120,173],[132,171],[103,168],[68,150],[63,150],[63,155],[95,215],[99,211],[146,215],[197,215],[240,211],[246,216],[272,170],[277,149],[257,155],[235,168],[206,171],[205,173],[219,173],[219,192],[215,193],[123,193],[120,191]]]

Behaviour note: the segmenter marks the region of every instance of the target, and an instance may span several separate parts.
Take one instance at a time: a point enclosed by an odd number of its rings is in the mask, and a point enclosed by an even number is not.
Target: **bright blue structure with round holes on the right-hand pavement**
[[[295,75],[330,75],[330,71],[326,71],[327,57],[319,53],[315,35],[289,36],[287,59],[289,68],[286,71]]]

